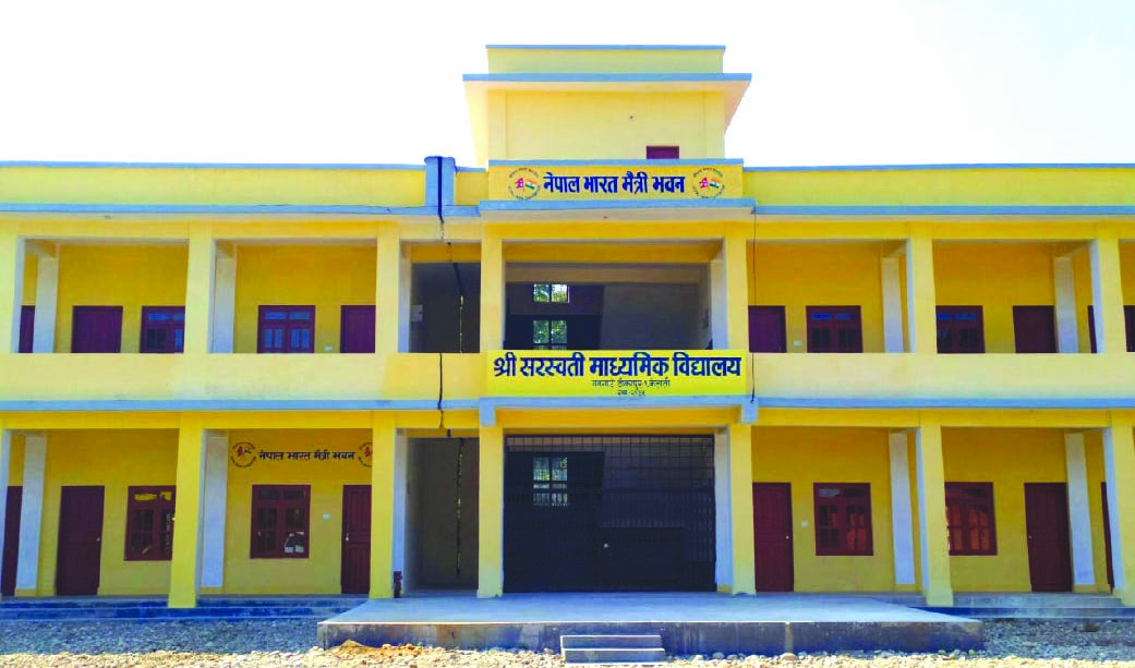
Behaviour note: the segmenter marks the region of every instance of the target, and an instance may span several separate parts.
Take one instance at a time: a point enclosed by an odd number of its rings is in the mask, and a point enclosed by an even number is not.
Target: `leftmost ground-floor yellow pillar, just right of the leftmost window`
[[[183,415],[177,432],[174,557],[169,565],[170,608],[195,608],[197,604],[204,473],[205,430],[197,415]]]

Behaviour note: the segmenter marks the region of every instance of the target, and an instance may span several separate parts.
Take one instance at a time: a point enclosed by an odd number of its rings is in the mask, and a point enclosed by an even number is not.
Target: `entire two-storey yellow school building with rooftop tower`
[[[722,56],[489,46],[470,168],[0,163],[2,594],[1135,604],[1135,166],[747,168]]]

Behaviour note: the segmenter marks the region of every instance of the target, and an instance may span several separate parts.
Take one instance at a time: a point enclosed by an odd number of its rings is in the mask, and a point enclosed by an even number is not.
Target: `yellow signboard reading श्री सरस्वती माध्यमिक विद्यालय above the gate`
[[[745,394],[742,350],[503,350],[487,355],[498,397]]]

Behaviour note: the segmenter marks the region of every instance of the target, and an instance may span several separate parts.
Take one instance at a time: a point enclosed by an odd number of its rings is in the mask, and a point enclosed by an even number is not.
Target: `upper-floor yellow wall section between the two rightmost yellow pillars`
[[[934,290],[940,306],[982,306],[986,353],[1015,353],[1014,306],[1052,306],[1049,244],[934,245]]]

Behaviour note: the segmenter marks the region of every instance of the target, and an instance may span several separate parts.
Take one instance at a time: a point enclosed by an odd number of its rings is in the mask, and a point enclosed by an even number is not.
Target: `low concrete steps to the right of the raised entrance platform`
[[[933,612],[975,619],[1102,620],[1135,619],[1135,608],[1125,608],[1111,594],[1074,593],[972,593],[953,594],[952,608],[922,607]]]

